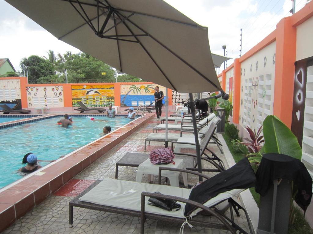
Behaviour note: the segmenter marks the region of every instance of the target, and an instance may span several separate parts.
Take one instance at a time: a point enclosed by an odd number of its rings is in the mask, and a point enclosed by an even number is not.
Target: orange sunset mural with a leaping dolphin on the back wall
[[[80,106],[78,101],[87,107],[114,105],[114,85],[72,85],[73,107]]]

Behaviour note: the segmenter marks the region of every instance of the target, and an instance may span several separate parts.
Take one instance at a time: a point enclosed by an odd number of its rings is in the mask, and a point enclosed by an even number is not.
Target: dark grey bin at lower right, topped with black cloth
[[[293,161],[294,158],[284,154],[264,154],[262,157],[263,165],[260,164],[256,173],[256,190],[261,194],[257,234],[288,233],[292,183],[273,175],[277,171],[282,177],[290,173],[286,165]]]

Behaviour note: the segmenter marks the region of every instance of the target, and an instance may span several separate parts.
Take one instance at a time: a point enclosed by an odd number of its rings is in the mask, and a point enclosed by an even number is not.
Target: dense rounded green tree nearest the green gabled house
[[[37,84],[40,77],[54,75],[54,65],[37,55],[23,58],[20,62],[21,71],[23,70],[23,65],[25,71],[28,71],[29,84]]]

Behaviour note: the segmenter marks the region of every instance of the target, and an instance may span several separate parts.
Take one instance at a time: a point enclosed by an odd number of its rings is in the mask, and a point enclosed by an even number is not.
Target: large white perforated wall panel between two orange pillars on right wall
[[[241,63],[239,124],[259,129],[273,114],[276,42]]]

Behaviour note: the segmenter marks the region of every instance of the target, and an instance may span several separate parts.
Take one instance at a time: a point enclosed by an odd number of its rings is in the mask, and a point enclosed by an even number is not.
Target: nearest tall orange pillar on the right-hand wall
[[[274,115],[291,127],[295,56],[296,27],[292,27],[291,17],[280,20],[276,26],[276,62],[274,85]]]

